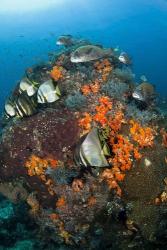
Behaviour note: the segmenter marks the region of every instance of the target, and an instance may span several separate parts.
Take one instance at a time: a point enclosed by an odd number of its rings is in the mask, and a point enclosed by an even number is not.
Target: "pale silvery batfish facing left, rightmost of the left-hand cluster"
[[[59,100],[61,96],[58,85],[51,79],[42,83],[37,91],[38,103],[52,103]]]

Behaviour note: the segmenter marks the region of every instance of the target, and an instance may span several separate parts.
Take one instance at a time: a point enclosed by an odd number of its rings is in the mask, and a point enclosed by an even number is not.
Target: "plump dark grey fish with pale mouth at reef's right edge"
[[[136,87],[132,93],[132,97],[140,102],[148,103],[153,101],[156,96],[155,88],[152,84],[148,82],[143,82]]]

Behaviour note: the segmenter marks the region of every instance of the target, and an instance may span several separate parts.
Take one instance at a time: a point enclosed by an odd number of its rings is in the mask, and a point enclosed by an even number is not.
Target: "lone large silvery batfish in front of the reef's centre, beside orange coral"
[[[86,136],[81,137],[76,147],[74,159],[76,164],[85,167],[109,166],[96,128],[92,129]]]

